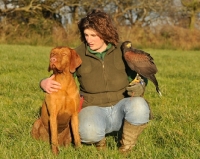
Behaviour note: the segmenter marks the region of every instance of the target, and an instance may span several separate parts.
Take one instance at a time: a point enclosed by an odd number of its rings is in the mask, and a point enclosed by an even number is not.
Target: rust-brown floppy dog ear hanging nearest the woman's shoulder
[[[81,65],[82,60],[75,50],[73,49],[70,50],[71,50],[71,62],[69,71],[71,73],[74,73],[76,71],[76,68]]]

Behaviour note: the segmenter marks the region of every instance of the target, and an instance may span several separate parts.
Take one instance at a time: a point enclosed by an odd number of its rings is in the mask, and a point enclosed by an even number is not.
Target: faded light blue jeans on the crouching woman
[[[142,97],[129,97],[111,107],[88,106],[79,113],[79,133],[84,143],[95,143],[119,131],[123,119],[133,125],[149,121],[150,109]]]

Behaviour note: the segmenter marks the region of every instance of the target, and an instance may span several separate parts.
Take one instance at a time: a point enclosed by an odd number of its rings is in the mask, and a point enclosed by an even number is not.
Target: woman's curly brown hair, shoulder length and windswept
[[[117,29],[112,23],[110,16],[99,10],[94,9],[82,18],[78,23],[78,28],[81,34],[81,41],[86,43],[84,30],[93,29],[97,32],[97,35],[105,41],[105,43],[111,43],[117,45],[119,42],[119,35]]]

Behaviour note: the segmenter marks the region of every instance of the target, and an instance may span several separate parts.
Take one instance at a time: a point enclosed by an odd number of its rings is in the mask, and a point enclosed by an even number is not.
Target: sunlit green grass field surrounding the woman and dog
[[[107,137],[108,149],[96,151],[83,145],[60,148],[52,155],[49,144],[32,139],[30,131],[39,115],[44,93],[39,81],[47,72],[50,47],[0,45],[0,158],[2,159],[121,159],[115,136]],[[128,158],[200,158],[200,52],[148,50],[159,72],[163,97],[149,82],[145,98],[153,120],[139,137]]]

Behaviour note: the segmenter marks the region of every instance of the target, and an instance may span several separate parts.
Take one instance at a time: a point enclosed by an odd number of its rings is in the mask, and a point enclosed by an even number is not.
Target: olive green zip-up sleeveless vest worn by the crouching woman
[[[112,106],[126,97],[130,71],[122,58],[121,43],[111,46],[103,59],[90,53],[83,43],[76,48],[82,59],[76,71],[80,83],[80,94],[84,97],[83,107]]]

